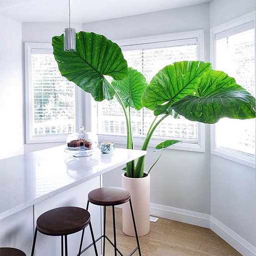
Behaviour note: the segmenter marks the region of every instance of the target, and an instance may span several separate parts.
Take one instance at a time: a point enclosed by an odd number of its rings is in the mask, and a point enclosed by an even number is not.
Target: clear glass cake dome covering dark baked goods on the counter
[[[84,126],[81,126],[77,133],[67,137],[66,150],[68,151],[93,151],[98,147],[98,136],[85,131]]]

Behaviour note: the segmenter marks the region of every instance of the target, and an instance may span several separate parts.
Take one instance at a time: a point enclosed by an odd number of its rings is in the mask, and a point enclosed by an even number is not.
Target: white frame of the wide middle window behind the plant
[[[156,48],[165,47],[166,43],[170,46],[170,42],[168,41],[179,41],[179,40],[197,40],[197,57],[198,60],[204,61],[204,31],[190,31],[190,32],[182,32],[175,34],[167,34],[160,36],[151,36],[151,37],[142,37],[135,39],[125,39],[115,41],[121,49],[125,50],[136,50],[140,49],[140,44],[150,44],[150,49],[152,49],[152,44],[156,44]],[[177,43],[175,44],[177,46]],[[144,47],[145,48],[145,47]],[[154,47],[153,47],[154,48]],[[91,95],[86,93],[85,96],[85,123],[86,130],[91,131]],[[118,135],[98,135],[98,139],[100,142],[103,141],[114,141],[116,144],[126,144],[126,136],[118,136]],[[155,147],[159,143],[161,143],[163,139],[157,140],[152,139],[149,147]],[[143,138],[134,137],[134,145],[142,146],[144,143]],[[198,144],[192,143],[180,143],[174,145],[170,148],[175,150],[185,150],[185,151],[195,151],[195,152],[205,152],[205,124],[198,122]]]

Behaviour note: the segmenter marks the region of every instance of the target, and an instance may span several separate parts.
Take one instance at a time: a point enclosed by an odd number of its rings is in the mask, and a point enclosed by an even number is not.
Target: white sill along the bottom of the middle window
[[[115,144],[124,144],[126,145],[126,136],[117,136],[117,135],[98,135],[99,142],[106,142],[112,141]],[[144,143],[143,138],[134,138],[134,145],[135,146],[142,146]],[[155,148],[159,143],[163,142],[164,140],[154,140],[152,139],[149,147]],[[174,150],[184,150],[184,151],[194,151],[194,152],[205,152],[204,144],[192,144],[192,143],[179,143],[177,145],[172,146],[170,149]],[[170,150],[168,149],[168,150]]]

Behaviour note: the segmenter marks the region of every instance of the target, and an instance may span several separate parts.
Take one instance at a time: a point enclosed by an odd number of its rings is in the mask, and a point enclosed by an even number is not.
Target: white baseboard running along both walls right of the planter
[[[154,203],[150,205],[151,215],[210,228],[243,256],[256,256],[256,247],[209,214]]]

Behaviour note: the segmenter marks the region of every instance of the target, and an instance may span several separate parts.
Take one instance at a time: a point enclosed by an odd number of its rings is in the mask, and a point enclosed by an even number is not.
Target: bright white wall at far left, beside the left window
[[[22,24],[0,16],[0,159],[24,153]]]

